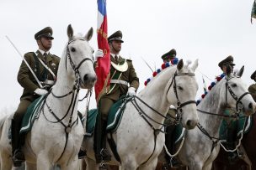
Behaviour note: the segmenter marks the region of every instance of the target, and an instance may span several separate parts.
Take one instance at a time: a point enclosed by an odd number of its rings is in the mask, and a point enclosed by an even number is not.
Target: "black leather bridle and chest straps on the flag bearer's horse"
[[[168,90],[170,90],[170,87],[173,85],[173,91],[174,91],[174,94],[175,94],[176,100],[177,100],[177,110],[178,110],[178,114],[179,114],[179,116],[178,116],[179,117],[179,121],[180,121],[180,117],[181,117],[181,114],[182,114],[182,107],[184,107],[186,105],[189,105],[189,104],[195,104],[196,105],[196,101],[195,100],[188,100],[188,101],[185,101],[184,103],[180,103],[179,95],[177,93],[177,86],[176,86],[176,79],[175,78],[177,76],[184,76],[184,75],[195,76],[194,73],[177,73],[177,70],[176,70],[175,73],[174,73],[174,76],[173,76],[173,80],[171,81],[171,84],[168,86]],[[168,90],[167,90],[166,94],[168,94]],[[150,116],[147,115],[147,113],[145,111],[143,111],[141,109],[141,106],[138,105],[136,100],[140,100],[143,105],[147,106],[153,112],[157,113],[157,115],[162,116],[165,119],[168,119],[168,117],[164,116],[159,111],[156,111],[154,108],[152,108],[151,106],[147,105],[147,103],[145,101],[141,100],[141,98],[139,98],[138,96],[135,95],[135,96],[133,96],[131,98],[131,103],[136,108],[136,111],[138,111],[139,115],[144,119],[144,121],[147,122],[147,124],[149,126],[151,126],[151,128],[154,131],[154,149],[153,149],[153,152],[152,152],[152,154],[153,154],[155,152],[155,149],[156,149],[157,135],[159,134],[159,132],[165,133],[165,131],[162,130],[163,126],[169,126],[169,125],[166,125],[164,123],[157,122],[157,121],[153,120]],[[162,125],[162,127],[156,129],[148,119],[153,121],[153,122],[155,122],[155,123],[157,123],[158,125]],[[152,154],[151,154],[150,157],[147,158],[147,161],[152,157]],[[147,161],[143,162],[142,164],[146,163]]]

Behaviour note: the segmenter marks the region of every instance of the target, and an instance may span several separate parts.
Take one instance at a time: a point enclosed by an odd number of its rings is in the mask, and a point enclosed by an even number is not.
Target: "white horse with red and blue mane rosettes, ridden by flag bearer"
[[[170,105],[178,108],[185,128],[192,129],[196,126],[197,66],[197,60],[191,67],[189,64],[184,65],[182,59],[179,60],[177,65],[162,70],[126,104],[120,125],[112,133],[120,162],[115,159],[108,143],[107,148],[112,154],[109,164],[121,165],[125,170],[155,169],[157,156],[163,149],[163,121]],[[88,152],[88,169],[98,169],[94,161],[93,137],[85,137],[83,147]]]

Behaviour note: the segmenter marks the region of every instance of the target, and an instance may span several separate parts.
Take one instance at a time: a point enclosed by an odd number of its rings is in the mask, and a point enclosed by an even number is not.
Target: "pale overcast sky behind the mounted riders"
[[[132,59],[141,85],[152,76],[143,63],[160,68],[161,56],[177,50],[179,59],[199,59],[201,73],[214,80],[221,74],[217,64],[232,54],[236,68],[245,65],[243,80],[253,84],[250,75],[256,70],[256,20],[250,23],[253,0],[108,0],[109,35],[123,32],[125,43],[121,56]],[[22,87],[17,74],[22,59],[5,38],[7,35],[21,54],[38,49],[34,35],[51,26],[51,54],[61,57],[67,43],[67,25],[75,33],[87,33],[93,27],[91,45],[96,50],[96,0],[1,0],[0,1],[0,109],[19,104]],[[203,93],[202,74],[196,72]],[[211,80],[205,77],[206,85]],[[83,90],[82,95],[85,90]],[[82,98],[83,96],[80,96]],[[79,104],[84,110],[84,103]],[[91,100],[91,108],[95,100]]]

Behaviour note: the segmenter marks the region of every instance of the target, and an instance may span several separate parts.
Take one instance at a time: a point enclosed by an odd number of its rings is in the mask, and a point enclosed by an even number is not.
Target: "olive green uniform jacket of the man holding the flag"
[[[125,60],[125,59],[119,57],[118,62],[116,62],[115,58],[112,55],[110,58],[111,58],[111,61],[114,62],[115,64],[119,64],[121,62],[124,62],[124,60]],[[128,64],[128,69],[122,73],[119,80],[127,81],[129,83],[129,87],[134,87],[137,90],[140,85],[139,78],[136,75],[136,71],[133,67],[131,59],[126,59],[126,62]],[[111,65],[110,78],[115,73],[115,71],[118,71],[118,70],[115,70],[115,68]],[[112,100],[118,100],[121,95],[126,95],[127,91],[128,91],[127,85],[116,84],[113,90],[111,90],[107,94],[104,94],[104,97],[107,97]]]

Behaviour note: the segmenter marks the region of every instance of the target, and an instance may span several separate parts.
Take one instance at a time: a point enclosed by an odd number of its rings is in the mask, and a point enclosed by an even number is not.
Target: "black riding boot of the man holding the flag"
[[[107,121],[102,120],[102,138],[101,138],[101,146],[102,150],[100,151],[100,154],[103,158],[104,162],[111,161],[111,155],[109,154],[109,151],[106,147],[107,144]]]

